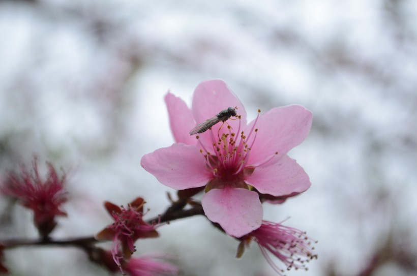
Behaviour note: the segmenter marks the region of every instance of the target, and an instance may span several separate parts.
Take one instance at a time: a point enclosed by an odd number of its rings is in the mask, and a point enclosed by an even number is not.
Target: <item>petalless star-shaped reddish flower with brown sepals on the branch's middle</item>
[[[111,250],[114,262],[121,266],[121,259],[129,259],[136,251],[135,241],[139,238],[158,237],[157,226],[143,221],[143,198],[136,198],[128,207],[119,207],[111,202],[105,202],[104,206],[113,217],[114,222],[100,231],[97,239],[112,240]],[[122,248],[123,254],[120,254]]]

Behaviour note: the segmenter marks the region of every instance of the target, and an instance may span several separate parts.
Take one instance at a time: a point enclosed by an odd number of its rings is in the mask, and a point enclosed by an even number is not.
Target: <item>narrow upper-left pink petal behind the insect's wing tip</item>
[[[169,125],[175,142],[195,145],[195,137],[190,136],[189,132],[195,127],[195,121],[191,109],[179,97],[175,97],[168,91],[165,96],[165,103],[169,114]]]

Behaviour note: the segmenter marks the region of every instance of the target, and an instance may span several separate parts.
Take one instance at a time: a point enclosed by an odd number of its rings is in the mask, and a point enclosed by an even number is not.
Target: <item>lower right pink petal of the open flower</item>
[[[262,194],[286,196],[302,193],[310,188],[310,179],[304,169],[294,159],[283,155],[278,162],[255,168],[245,182]]]

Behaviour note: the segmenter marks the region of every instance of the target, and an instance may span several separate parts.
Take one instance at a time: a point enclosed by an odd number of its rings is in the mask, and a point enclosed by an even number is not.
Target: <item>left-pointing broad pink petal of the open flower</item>
[[[198,148],[183,143],[144,155],[140,165],[163,185],[178,190],[202,187],[213,177]]]

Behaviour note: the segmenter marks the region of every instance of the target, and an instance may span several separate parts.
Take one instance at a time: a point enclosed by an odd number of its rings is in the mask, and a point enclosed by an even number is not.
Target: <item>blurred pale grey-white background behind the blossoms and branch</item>
[[[302,104],[314,115],[290,151],[312,187],[265,219],[318,240],[309,271],[287,275],[417,274],[417,2],[413,0],[0,1],[0,173],[51,161],[68,173],[69,217],[55,238],[111,222],[104,200],[143,196],[149,218],[168,206],[141,157],[173,138],[163,97],[188,104],[221,78],[248,119]],[[44,168],[45,169],[45,168]],[[0,240],[37,237],[16,206]],[[138,256],[178,257],[183,275],[275,275],[256,244],[204,218],[139,240]],[[104,244],[109,248],[110,244]],[[12,275],[106,275],[75,248],[5,252]],[[76,265],[75,265],[76,264]]]

